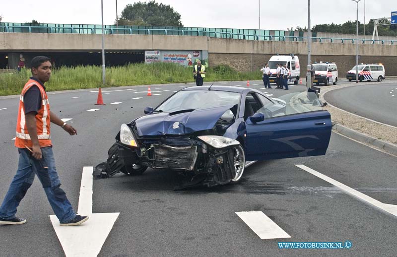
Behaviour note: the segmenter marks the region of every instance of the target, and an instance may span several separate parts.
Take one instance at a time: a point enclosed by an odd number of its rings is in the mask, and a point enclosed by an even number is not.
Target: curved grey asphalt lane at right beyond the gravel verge
[[[360,84],[363,85],[332,90],[324,97],[340,109],[397,127],[397,82]]]

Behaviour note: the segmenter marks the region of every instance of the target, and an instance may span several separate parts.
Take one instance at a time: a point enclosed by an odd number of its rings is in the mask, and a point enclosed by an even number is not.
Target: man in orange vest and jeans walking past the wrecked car
[[[76,226],[88,220],[88,216],[76,215],[61,189],[55,168],[50,123],[60,126],[70,135],[76,135],[77,131],[50,110],[44,86],[51,76],[50,59],[37,56],[32,59],[30,67],[32,77],[22,89],[16,125],[18,170],[1,204],[0,224],[19,225],[26,222],[26,219],[15,216],[16,209],[37,175],[60,225]]]

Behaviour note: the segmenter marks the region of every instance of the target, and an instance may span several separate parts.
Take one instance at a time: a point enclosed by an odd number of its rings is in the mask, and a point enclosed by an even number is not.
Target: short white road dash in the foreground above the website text
[[[242,211],[236,214],[257,234],[261,239],[290,238],[282,228],[274,223],[262,211]]]

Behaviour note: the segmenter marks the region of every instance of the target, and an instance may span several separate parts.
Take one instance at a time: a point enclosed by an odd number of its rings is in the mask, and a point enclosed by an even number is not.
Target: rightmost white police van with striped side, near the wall
[[[356,66],[347,71],[346,78],[349,81],[356,80]],[[383,64],[358,64],[358,80],[382,81],[385,78],[385,67]]]

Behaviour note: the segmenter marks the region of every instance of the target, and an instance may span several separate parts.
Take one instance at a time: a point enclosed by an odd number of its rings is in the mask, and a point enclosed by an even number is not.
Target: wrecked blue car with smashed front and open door
[[[251,161],[324,155],[331,115],[310,92],[285,99],[230,86],[184,88],[122,124],[97,175],[183,174],[181,188],[238,183]]]

